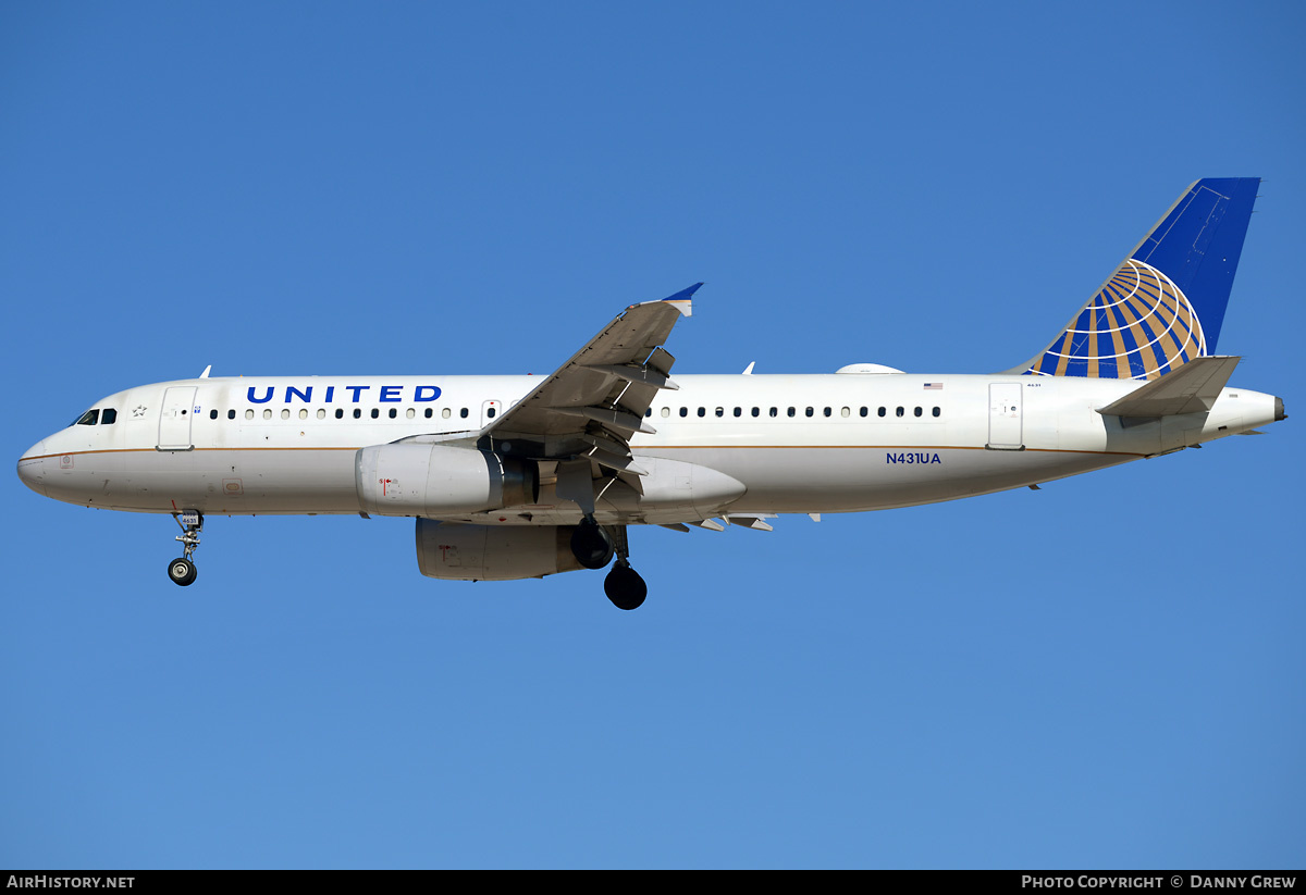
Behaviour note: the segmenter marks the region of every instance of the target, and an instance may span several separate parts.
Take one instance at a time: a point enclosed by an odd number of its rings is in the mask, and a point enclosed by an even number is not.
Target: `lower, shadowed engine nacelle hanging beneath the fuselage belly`
[[[575,526],[471,526],[417,521],[417,564],[427,578],[516,581],[575,571]]]

